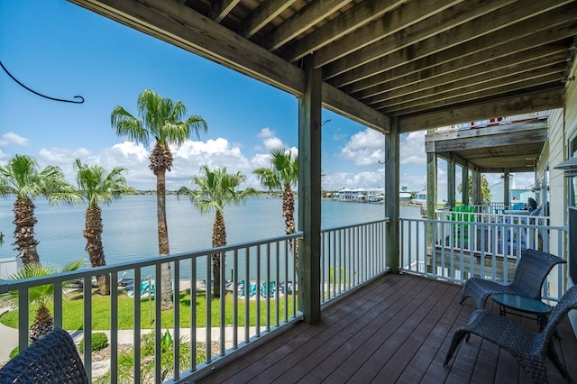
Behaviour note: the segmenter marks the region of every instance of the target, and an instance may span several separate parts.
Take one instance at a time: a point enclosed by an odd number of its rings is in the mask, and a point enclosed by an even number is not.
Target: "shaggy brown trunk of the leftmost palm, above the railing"
[[[20,253],[24,266],[40,263],[34,239],[34,204],[28,197],[17,197],[14,201],[14,250]]]

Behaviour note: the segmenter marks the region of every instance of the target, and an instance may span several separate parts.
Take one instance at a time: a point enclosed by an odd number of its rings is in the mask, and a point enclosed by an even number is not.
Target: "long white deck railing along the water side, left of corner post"
[[[386,221],[379,221],[322,231],[321,304],[387,270],[386,225]],[[169,379],[183,382],[204,376],[206,370],[224,365],[237,350],[248,347],[244,349],[247,350],[263,343],[274,336],[280,327],[301,318],[294,262],[295,244],[301,238],[302,233],[295,233],[259,242],[153,257],[36,279],[0,281],[0,294],[11,290],[19,292],[18,344],[23,349],[29,342],[30,288],[53,285],[54,302],[50,310],[54,315],[54,325],[66,329],[65,320],[69,313],[66,312],[63,297],[67,294],[66,282],[74,281],[79,288],[68,293],[81,300],[83,315],[78,330],[69,331],[77,336],[78,341],[85,334],[101,331],[95,329],[93,324],[92,314],[96,310],[94,297],[97,296],[94,282],[97,275],[108,275],[110,281],[121,284],[111,284],[110,296],[105,297],[105,310],[108,311],[105,316],[110,318],[110,329],[106,333],[112,361],[107,380],[118,382],[126,379],[129,372],[129,379],[133,382],[140,382],[143,378],[144,381]],[[214,285],[211,258],[215,254],[221,258],[221,297],[215,297],[211,289]],[[178,293],[173,300],[173,309],[168,312],[161,310],[160,299],[154,300],[154,297],[161,296],[161,265],[165,263],[169,263],[173,277],[172,292]],[[119,327],[119,299],[123,291],[133,297],[133,322],[129,330]],[[189,320],[187,324],[180,320],[183,317]],[[169,350],[163,341],[168,329],[173,341]],[[149,332],[153,332],[153,356],[145,356],[143,352],[150,346],[144,345],[141,336]],[[119,361],[126,359],[120,356],[123,352],[119,352],[118,347],[120,343],[125,343],[127,337],[133,344],[130,352],[132,358],[129,359],[133,363],[129,367],[121,367]],[[181,338],[186,340],[187,350],[190,351],[186,359],[183,359],[185,352],[179,346]],[[85,338],[83,343],[85,367],[88,377],[91,377],[91,338]],[[168,368],[163,362],[167,361],[167,356],[170,361]],[[147,361],[148,365],[142,366],[142,361]]]

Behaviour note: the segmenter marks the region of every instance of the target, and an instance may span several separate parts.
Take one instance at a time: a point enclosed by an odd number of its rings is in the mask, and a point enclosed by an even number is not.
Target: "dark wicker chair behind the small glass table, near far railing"
[[[545,278],[555,265],[563,262],[566,261],[551,253],[524,250],[511,284],[503,285],[480,278],[468,279],[463,285],[459,304],[463,304],[467,297],[472,297],[477,303],[477,309],[482,309],[487,297],[493,293],[510,293],[540,299]]]

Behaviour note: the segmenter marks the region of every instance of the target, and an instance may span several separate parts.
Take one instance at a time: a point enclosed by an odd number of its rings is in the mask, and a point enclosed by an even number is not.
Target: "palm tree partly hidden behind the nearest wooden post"
[[[282,191],[282,215],[285,217],[285,233],[297,232],[295,226],[295,195],[292,187],[298,183],[298,158],[284,147],[270,150],[270,168],[252,171],[261,179],[263,187]],[[292,248],[292,242],[290,243]],[[298,251],[295,245],[295,265],[298,267]]]

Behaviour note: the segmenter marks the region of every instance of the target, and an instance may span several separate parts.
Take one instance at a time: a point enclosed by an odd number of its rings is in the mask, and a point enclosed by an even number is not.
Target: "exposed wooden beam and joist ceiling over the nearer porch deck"
[[[385,133],[562,107],[577,36],[577,0],[69,1],[295,96],[310,54],[325,108]]]

